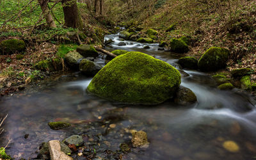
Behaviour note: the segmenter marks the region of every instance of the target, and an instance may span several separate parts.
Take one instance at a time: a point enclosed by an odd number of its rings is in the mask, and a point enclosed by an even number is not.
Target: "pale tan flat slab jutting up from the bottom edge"
[[[58,140],[49,141],[49,150],[51,160],[72,160],[72,157],[67,156],[61,151],[60,141]]]

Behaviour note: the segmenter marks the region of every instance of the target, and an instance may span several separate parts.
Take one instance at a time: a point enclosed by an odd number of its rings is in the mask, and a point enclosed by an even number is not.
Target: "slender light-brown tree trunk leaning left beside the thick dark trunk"
[[[50,10],[48,8],[48,0],[38,0],[38,3],[40,4],[42,13],[45,17],[45,20],[50,28],[56,28],[56,24],[52,18],[52,15],[50,13]]]

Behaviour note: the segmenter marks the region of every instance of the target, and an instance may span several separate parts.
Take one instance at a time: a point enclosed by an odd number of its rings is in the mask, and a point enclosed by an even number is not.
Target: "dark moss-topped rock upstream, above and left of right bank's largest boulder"
[[[172,52],[185,53],[189,51],[188,45],[179,38],[173,38],[170,41],[170,47]]]

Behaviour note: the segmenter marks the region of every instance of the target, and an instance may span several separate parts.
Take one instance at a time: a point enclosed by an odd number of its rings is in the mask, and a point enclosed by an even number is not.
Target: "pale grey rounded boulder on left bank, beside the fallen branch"
[[[79,70],[79,61],[83,58],[83,56],[79,54],[79,52],[68,52],[67,54],[65,54],[64,58],[67,62],[68,67],[74,70]]]

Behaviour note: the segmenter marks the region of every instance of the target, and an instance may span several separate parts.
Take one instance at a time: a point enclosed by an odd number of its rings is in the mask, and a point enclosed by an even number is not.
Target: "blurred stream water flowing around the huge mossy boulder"
[[[127,45],[118,46],[118,35],[106,36],[106,40],[109,38],[115,40],[113,47],[107,47],[109,51],[145,52],[179,69],[181,86],[193,90],[198,102],[190,106],[179,106],[171,100],[157,106],[118,104],[86,93],[92,77],[80,73],[61,76],[45,86],[1,99],[0,116],[9,116],[0,145],[8,138],[12,140],[6,149],[8,154],[33,159],[40,143],[63,140],[72,134],[86,135],[89,139],[84,141],[88,143],[97,139],[97,150],[115,151],[120,143],[131,143],[129,131],[135,129],[147,132],[150,145],[131,148],[123,159],[255,158],[256,111],[250,95],[218,90],[211,77],[196,70],[182,70],[176,63],[180,55],[157,51],[157,44],[124,41]],[[150,49],[143,49],[145,45]],[[104,57],[99,57],[97,63],[104,65]],[[69,122],[72,127],[54,131],[47,125],[53,121]],[[110,124],[116,126],[109,128]],[[225,141],[234,141],[239,148],[231,145],[229,148],[236,152],[229,151],[223,147]]]

